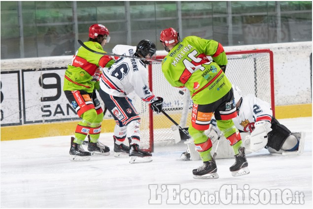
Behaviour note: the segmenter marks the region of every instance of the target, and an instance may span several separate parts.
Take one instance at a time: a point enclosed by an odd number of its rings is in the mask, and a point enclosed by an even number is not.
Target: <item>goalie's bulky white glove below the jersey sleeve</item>
[[[259,151],[264,148],[268,142],[267,133],[272,130],[271,123],[267,121],[258,121],[254,123],[254,130],[250,136],[251,151]]]

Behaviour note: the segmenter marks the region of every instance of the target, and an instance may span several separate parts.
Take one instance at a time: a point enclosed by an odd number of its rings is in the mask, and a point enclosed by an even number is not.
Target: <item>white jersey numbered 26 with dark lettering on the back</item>
[[[112,52],[118,55],[133,56],[136,46],[116,45]],[[139,59],[118,58],[109,68],[103,68],[100,87],[106,93],[125,97],[135,93],[145,102],[156,100],[155,95],[148,87],[148,71],[145,64]]]

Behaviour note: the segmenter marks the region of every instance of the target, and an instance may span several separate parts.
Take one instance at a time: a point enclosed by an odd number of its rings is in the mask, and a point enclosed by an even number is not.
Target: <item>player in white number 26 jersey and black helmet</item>
[[[120,57],[109,68],[103,68],[99,94],[104,101],[107,110],[115,119],[114,127],[114,156],[130,156],[130,163],[150,162],[152,154],[139,149],[140,146],[140,116],[128,97],[133,91],[147,103],[151,103],[151,109],[160,113],[163,98],[156,97],[147,84],[147,60],[153,59],[156,46],[149,40],[141,40],[136,46],[117,45],[113,49],[114,54],[134,56],[134,58]],[[129,145],[124,144],[128,138]]]

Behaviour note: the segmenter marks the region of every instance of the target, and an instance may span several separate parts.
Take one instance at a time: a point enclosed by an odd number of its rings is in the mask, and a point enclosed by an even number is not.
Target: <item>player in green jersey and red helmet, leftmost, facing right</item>
[[[89,28],[89,39],[84,44],[98,52],[103,52],[104,44],[109,42],[109,31],[103,25],[94,24]],[[110,56],[98,55],[80,47],[64,76],[63,90],[77,115],[75,137],[71,137],[70,160],[89,160],[93,153],[108,155],[109,147],[99,142],[101,122],[104,114],[96,95],[100,89],[100,67],[110,67],[114,60]],[[82,143],[89,134],[88,151]]]

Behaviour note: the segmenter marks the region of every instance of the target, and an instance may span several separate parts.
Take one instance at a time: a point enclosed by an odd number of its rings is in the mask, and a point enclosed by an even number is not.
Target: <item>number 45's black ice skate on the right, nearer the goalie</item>
[[[244,147],[239,148],[238,151],[239,153],[235,155],[236,162],[229,168],[233,177],[243,176],[250,173],[248,162],[244,154]]]

